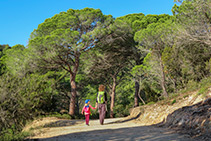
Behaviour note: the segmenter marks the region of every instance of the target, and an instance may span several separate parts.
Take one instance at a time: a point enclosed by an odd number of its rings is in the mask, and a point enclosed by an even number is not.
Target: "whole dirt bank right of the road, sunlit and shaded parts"
[[[195,91],[134,108],[130,117],[137,117],[136,121],[143,125],[158,124],[197,140],[211,140],[211,89],[204,96]]]

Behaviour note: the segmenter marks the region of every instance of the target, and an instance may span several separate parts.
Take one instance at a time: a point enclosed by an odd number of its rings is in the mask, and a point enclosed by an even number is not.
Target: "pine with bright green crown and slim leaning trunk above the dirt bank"
[[[159,72],[157,76],[160,79],[160,85],[162,87],[164,97],[168,97],[168,93],[166,89],[166,76],[164,73],[162,53],[165,47],[173,46],[173,44],[171,44],[173,42],[172,25],[173,23],[171,20],[165,21],[164,23],[153,23],[146,29],[137,32],[135,35],[135,39],[140,43],[141,50],[148,50],[148,52],[151,52],[151,55],[155,57],[154,61],[159,63],[159,69],[156,71]]]

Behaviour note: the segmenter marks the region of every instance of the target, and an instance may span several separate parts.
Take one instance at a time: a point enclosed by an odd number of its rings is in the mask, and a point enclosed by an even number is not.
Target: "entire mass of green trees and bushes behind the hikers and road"
[[[26,136],[23,127],[37,117],[82,118],[85,99],[94,105],[100,84],[107,117],[160,101],[173,112],[169,104],[179,101],[166,99],[198,89],[205,95],[211,1],[178,0],[172,13],[114,18],[100,9],[69,9],[32,29],[27,46],[0,45],[0,140]]]

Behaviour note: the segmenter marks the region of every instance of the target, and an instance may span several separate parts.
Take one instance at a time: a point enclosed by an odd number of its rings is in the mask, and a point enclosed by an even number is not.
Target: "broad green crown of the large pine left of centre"
[[[108,26],[112,19],[99,9],[69,9],[40,24],[31,34],[29,48],[38,59],[45,60],[42,65],[75,73],[71,67],[83,51],[93,47],[104,32],[101,27]]]

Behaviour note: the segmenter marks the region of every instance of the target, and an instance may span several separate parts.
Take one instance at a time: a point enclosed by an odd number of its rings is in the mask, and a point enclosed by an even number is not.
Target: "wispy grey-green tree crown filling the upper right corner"
[[[211,45],[211,2],[210,0],[183,1],[172,9],[179,26],[179,39],[182,43],[200,43]]]

